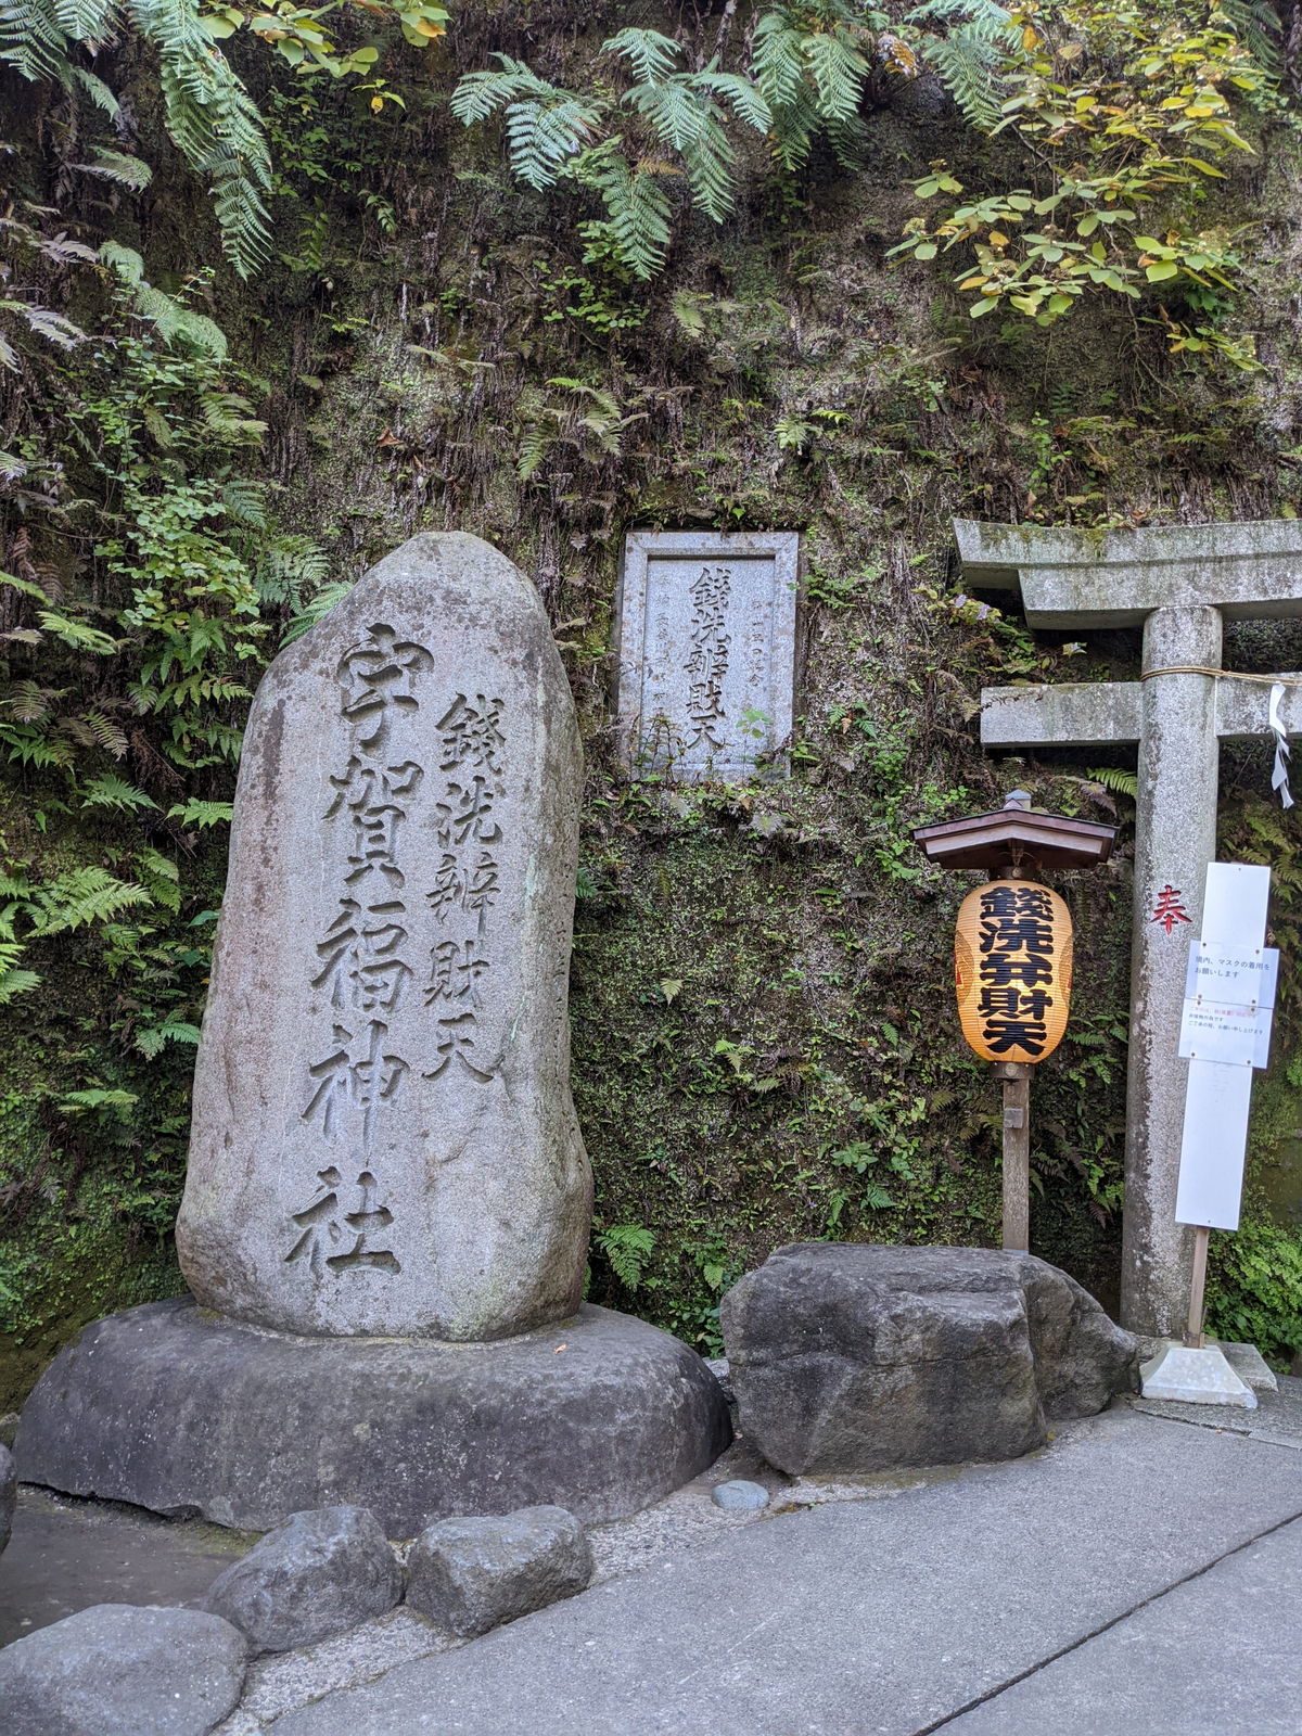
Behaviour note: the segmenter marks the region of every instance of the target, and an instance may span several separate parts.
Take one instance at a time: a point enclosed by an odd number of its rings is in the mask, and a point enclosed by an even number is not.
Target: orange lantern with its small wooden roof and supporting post
[[[1071,1009],[1071,915],[1029,868],[1108,861],[1115,826],[1038,814],[1024,790],[1002,809],[918,826],[941,868],[998,870],[955,925],[955,991],[969,1045],[1003,1082],[1003,1246],[1029,1252],[1031,1069],[1062,1042]]]

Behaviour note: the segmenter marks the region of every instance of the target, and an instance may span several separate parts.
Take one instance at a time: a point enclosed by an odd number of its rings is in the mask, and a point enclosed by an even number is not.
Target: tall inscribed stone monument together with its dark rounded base
[[[717,1455],[701,1359],[580,1305],[580,778],[536,590],[474,536],[413,538],[276,658],[194,1075],[194,1302],[61,1352],[23,1477],[243,1526],[352,1502],[408,1535],[613,1517]]]

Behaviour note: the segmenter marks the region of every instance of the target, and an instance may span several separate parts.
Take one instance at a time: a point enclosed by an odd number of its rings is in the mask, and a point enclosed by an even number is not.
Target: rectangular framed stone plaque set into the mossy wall
[[[630,531],[620,724],[634,769],[750,776],[795,705],[797,531]]]

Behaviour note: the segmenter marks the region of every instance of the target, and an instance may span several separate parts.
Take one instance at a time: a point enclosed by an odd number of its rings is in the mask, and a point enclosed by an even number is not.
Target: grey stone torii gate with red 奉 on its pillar
[[[1222,621],[1302,615],[1302,521],[1080,531],[955,519],[955,533],[965,583],[1019,589],[1029,627],[1144,627],[1139,681],[986,687],[981,741],[1139,745],[1121,1319],[1174,1335],[1193,1257],[1174,1215],[1186,939],[1215,859],[1220,743],[1272,733],[1272,677],[1220,672]],[[1302,734],[1302,687],[1276,700],[1285,734]]]

